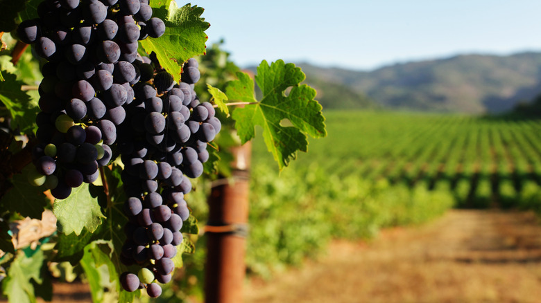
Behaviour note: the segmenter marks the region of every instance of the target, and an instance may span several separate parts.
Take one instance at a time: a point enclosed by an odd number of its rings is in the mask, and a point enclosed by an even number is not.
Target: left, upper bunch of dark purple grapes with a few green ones
[[[19,39],[48,61],[28,180],[66,199],[72,188],[96,181],[98,167],[112,159],[132,85],[152,77],[138,40],[160,37],[165,25],[152,17],[148,0],[44,0],[37,12],[17,28]]]

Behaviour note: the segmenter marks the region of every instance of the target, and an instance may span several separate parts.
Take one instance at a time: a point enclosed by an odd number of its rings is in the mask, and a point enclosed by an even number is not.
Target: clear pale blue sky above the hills
[[[184,2],[178,1],[179,6]],[[201,0],[209,44],[261,59],[368,70],[458,53],[541,50],[539,0]]]

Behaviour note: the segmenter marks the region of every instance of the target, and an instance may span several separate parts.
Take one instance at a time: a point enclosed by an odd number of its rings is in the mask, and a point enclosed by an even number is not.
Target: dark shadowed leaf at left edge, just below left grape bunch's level
[[[23,217],[42,219],[44,208],[50,201],[43,194],[42,187],[35,187],[28,183],[26,174],[31,165],[26,165],[20,174],[14,174],[11,179],[13,187],[2,197],[0,207],[10,212],[19,212]]]

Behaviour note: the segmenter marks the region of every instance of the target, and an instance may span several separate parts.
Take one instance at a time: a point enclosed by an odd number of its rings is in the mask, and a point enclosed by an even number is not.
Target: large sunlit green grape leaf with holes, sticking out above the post
[[[306,76],[295,64],[278,60],[268,65],[261,62],[255,80],[261,89],[261,101],[255,99],[254,82],[246,73],[237,73],[238,80],[227,85],[229,100],[253,104],[239,107],[232,113],[237,134],[242,143],[255,136],[255,126],[263,127],[263,138],[282,170],[297,152],[307,152],[307,135],[313,138],[327,136],[325,117],[321,105],[314,100],[316,90],[300,84]],[[288,94],[286,91],[291,89]],[[282,125],[289,120],[292,127]]]

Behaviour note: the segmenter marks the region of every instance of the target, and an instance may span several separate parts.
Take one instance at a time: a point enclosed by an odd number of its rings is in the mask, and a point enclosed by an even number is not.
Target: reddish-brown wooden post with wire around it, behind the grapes
[[[243,301],[251,151],[250,142],[232,149],[232,177],[216,183],[209,197],[206,303]]]

